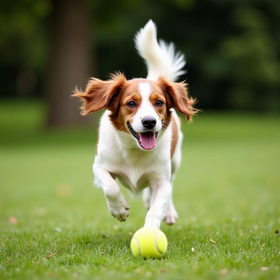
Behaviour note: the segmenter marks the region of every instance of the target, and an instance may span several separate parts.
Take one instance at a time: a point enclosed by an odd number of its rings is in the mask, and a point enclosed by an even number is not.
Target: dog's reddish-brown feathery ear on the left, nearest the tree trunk
[[[81,106],[81,114],[86,115],[100,109],[111,109],[112,101],[115,100],[121,88],[127,82],[124,74],[118,72],[111,76],[108,81],[92,78],[86,86],[86,91],[79,91],[76,87],[72,96],[80,97],[84,100]]]

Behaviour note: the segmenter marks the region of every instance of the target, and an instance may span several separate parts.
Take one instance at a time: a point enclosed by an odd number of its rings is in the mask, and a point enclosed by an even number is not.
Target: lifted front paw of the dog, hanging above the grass
[[[129,216],[129,205],[122,193],[114,198],[107,198],[107,205],[113,217],[120,222],[125,222]]]

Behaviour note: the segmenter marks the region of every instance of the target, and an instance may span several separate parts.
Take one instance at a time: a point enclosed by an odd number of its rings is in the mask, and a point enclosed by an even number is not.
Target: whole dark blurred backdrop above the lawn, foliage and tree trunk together
[[[1,99],[44,100],[49,126],[87,121],[72,90],[116,70],[145,77],[133,38],[149,19],[185,54],[199,109],[280,112],[277,0],[2,1]]]

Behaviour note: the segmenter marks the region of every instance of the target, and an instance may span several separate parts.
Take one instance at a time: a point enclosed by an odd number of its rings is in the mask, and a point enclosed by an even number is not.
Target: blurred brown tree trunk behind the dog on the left
[[[80,100],[71,98],[76,85],[84,89],[91,75],[90,24],[86,0],[53,2],[51,55],[46,84],[48,126],[89,121],[80,115]]]

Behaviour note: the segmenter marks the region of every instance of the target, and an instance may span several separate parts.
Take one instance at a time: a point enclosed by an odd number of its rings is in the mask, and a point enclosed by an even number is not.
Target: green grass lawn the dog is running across
[[[1,279],[280,279],[280,116],[206,111],[184,122],[179,220],[162,223],[166,254],[143,260],[129,247],[141,198],[124,191],[120,223],[92,187],[96,129],[46,131],[43,112],[0,105]]]

